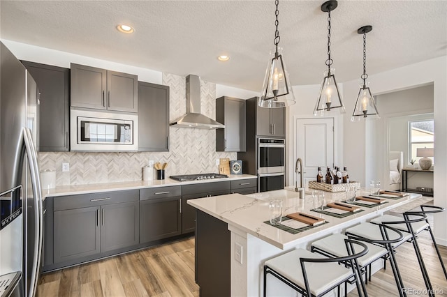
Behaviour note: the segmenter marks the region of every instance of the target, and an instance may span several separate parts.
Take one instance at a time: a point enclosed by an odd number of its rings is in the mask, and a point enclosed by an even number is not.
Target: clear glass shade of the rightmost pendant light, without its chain
[[[369,90],[369,83],[360,85],[356,107],[354,107],[351,121],[367,119],[380,119],[379,112],[377,112],[376,100],[374,100]]]

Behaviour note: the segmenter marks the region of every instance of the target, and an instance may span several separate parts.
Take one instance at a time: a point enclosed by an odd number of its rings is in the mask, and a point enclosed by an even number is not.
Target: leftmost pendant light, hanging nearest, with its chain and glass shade
[[[276,20],[274,21],[276,30],[274,31],[273,40],[275,48],[274,52],[270,52],[261,97],[258,99],[258,105],[267,108],[287,107],[295,104],[295,96],[293,96],[290,79],[288,79],[286,66],[282,59],[282,48],[278,47],[279,40],[281,39],[278,31],[279,0],[274,1],[274,3],[276,4],[276,10],[274,12],[276,16]]]

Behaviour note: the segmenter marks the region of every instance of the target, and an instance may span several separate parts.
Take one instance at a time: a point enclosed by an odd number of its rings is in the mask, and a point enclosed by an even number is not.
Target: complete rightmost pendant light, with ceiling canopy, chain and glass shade
[[[376,100],[374,100],[369,90],[369,82],[366,82],[368,78],[366,74],[366,33],[371,31],[372,26],[362,26],[357,30],[357,33],[363,34],[363,74],[360,76],[363,79],[363,84],[360,85],[360,91],[358,91],[356,107],[354,107],[351,121],[380,118],[379,112],[377,112]]]

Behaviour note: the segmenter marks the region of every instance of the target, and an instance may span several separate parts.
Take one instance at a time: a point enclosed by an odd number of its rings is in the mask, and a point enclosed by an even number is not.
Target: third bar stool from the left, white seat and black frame
[[[426,215],[418,215],[419,218],[413,219],[413,220],[401,220],[401,221],[395,221],[395,222],[382,222],[381,224],[373,224],[371,222],[364,222],[361,224],[358,224],[354,227],[351,227],[349,229],[346,229],[346,235],[349,238],[353,238],[355,240],[361,240],[366,241],[368,243],[379,243],[384,246],[388,250],[389,259],[391,268],[393,269],[393,274],[395,276],[395,281],[397,285],[397,290],[399,291],[400,296],[406,296],[406,292],[404,291],[404,283],[402,282],[402,277],[400,276],[400,271],[397,266],[397,261],[395,259],[395,248],[402,245],[402,243],[406,241],[413,242],[413,246],[417,246],[417,243],[415,245],[416,238],[413,236],[413,233],[406,233],[402,234],[401,231],[397,230],[396,228],[388,226],[388,224],[407,224],[410,225],[415,222],[420,222],[422,220],[425,220]],[[411,228],[411,227],[410,227]],[[389,241],[388,243],[383,242],[380,243],[380,241]],[[427,289],[431,289],[430,280],[427,278],[427,273],[425,270],[425,265],[423,263],[422,257],[420,257],[420,251],[415,248],[416,257],[418,258],[418,262],[420,264],[421,271],[423,272],[424,282],[427,286]],[[430,290],[429,289],[429,290]],[[429,291],[429,293],[431,293]],[[430,295],[431,296],[431,295]]]

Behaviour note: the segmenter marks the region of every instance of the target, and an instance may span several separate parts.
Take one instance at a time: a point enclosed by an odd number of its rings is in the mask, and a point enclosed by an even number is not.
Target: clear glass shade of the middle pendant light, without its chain
[[[334,69],[330,69],[330,71],[328,70],[324,73],[324,79],[321,83],[320,93],[314,109],[314,116],[324,116],[325,113],[332,111],[340,114],[346,112],[334,72]]]

